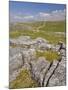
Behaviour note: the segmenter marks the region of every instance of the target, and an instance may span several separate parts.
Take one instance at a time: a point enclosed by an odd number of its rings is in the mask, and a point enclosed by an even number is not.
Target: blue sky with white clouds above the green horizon
[[[65,4],[9,1],[10,22],[65,20]]]

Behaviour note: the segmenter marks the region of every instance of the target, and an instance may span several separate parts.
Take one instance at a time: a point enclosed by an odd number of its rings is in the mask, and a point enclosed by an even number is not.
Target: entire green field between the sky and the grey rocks
[[[20,35],[30,36],[32,39],[42,37],[49,43],[56,44],[58,41],[65,42],[65,21],[54,22],[30,22],[10,25],[10,38]]]

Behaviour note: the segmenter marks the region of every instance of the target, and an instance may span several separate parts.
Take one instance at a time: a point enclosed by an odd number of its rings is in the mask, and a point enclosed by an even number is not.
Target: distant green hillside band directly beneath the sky
[[[40,27],[41,26],[41,27]],[[52,32],[65,32],[66,22],[65,21],[40,21],[40,22],[32,22],[32,23],[16,23],[15,25],[10,24],[10,31],[14,30],[29,30],[29,27],[31,29],[37,29],[43,31],[52,31]]]

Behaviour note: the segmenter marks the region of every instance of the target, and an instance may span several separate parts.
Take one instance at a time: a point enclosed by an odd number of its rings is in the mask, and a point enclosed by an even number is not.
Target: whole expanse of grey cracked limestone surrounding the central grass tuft
[[[30,45],[25,47],[10,47],[9,49],[9,80],[16,79],[22,69],[28,69],[31,76],[39,85],[45,86],[64,86],[66,85],[66,46],[63,43],[51,45],[47,40],[37,38],[35,40],[30,37],[22,36],[18,39],[10,40],[10,44]],[[62,45],[61,45],[62,44]],[[36,50],[57,51],[61,55],[60,60],[53,62],[47,61],[44,57],[36,58]]]

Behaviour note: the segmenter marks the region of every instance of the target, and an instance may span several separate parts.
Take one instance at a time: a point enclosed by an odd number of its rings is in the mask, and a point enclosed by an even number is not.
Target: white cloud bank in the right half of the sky
[[[38,17],[44,21],[60,21],[65,20],[66,10],[55,10],[51,12],[39,12]]]

